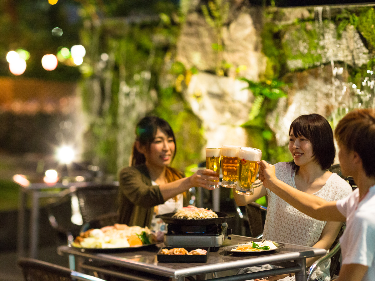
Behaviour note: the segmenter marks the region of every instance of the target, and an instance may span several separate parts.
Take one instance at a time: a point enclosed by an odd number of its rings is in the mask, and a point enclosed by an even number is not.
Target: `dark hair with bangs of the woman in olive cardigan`
[[[136,141],[138,141],[142,146],[150,148],[151,142],[153,142],[156,131],[159,129],[165,135],[170,138],[173,138],[174,145],[176,147],[176,139],[174,137],[173,130],[171,126],[169,126],[168,122],[162,118],[156,116],[146,116],[138,122],[135,128],[135,135]],[[172,160],[176,155],[176,149],[174,150],[174,154]],[[132,155],[132,166],[144,164],[146,162],[146,158],[144,155],[136,149],[135,143],[133,145],[133,155]]]

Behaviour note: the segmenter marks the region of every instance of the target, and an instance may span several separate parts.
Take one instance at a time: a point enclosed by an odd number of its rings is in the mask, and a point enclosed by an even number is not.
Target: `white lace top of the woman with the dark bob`
[[[294,183],[295,172],[291,164],[280,162],[275,166],[276,177],[291,187],[297,188]],[[327,179],[326,184],[314,195],[327,201],[336,201],[347,197],[351,192],[350,184],[333,173]],[[318,242],[326,221],[315,220],[303,214],[269,189],[267,189],[267,197],[268,209],[263,230],[264,239],[309,247]],[[314,280],[330,280],[329,263],[317,268],[315,272]]]

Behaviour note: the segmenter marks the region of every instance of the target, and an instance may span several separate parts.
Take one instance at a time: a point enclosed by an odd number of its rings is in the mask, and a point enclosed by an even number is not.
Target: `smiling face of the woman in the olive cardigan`
[[[158,128],[155,138],[150,143],[150,148],[146,149],[142,146],[140,152],[144,154],[148,167],[164,167],[171,163],[174,151],[173,138],[167,136]]]

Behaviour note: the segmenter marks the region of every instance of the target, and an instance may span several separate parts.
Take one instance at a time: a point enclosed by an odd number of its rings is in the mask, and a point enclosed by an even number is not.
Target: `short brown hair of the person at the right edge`
[[[335,129],[336,140],[361,157],[366,176],[375,176],[375,110],[356,109],[345,115]]]

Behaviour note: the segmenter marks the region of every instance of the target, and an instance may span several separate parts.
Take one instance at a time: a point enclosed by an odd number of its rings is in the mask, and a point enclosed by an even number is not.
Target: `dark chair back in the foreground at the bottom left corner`
[[[22,268],[25,281],[104,281],[97,277],[36,259],[20,258],[18,265]]]

